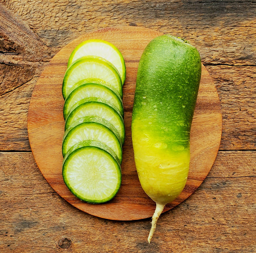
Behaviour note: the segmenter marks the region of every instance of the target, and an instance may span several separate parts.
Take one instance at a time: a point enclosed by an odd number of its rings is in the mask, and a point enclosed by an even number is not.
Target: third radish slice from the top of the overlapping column
[[[75,88],[65,100],[63,115],[72,112],[78,105],[89,101],[97,101],[108,104],[123,116],[122,100],[108,87],[97,83],[85,83]]]

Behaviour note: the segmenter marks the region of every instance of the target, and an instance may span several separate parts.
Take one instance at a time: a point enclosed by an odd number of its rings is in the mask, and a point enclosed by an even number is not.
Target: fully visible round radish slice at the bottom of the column
[[[98,147],[74,150],[63,162],[62,175],[73,195],[89,203],[109,201],[121,185],[119,164]]]

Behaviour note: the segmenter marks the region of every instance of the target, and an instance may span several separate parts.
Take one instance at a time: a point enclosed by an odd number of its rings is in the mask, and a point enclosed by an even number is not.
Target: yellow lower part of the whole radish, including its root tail
[[[168,141],[150,133],[147,131],[148,128],[144,129],[142,125],[141,122],[133,122],[132,138],[137,140],[133,141],[133,148],[140,184],[146,194],[156,202],[152,227],[147,239],[150,243],[165,205],[179,196],[186,184],[190,150],[170,151],[164,148],[167,147]],[[158,142],[154,142],[154,139]]]

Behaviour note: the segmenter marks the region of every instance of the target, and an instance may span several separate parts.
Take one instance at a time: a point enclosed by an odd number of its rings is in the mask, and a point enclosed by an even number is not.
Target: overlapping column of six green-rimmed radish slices
[[[121,185],[125,64],[116,46],[86,40],[72,52],[63,79],[62,175],[88,203],[112,199]]]

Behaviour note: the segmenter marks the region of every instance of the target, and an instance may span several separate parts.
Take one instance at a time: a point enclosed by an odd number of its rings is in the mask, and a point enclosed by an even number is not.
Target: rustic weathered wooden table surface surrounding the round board
[[[141,26],[189,40],[219,93],[222,138],[195,193],[150,219],[113,221],[78,210],[37,168],[27,133],[33,89],[51,58],[104,27]],[[1,0],[1,253],[256,252],[256,1]]]

